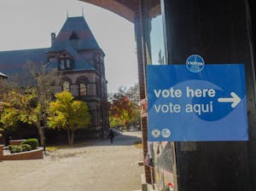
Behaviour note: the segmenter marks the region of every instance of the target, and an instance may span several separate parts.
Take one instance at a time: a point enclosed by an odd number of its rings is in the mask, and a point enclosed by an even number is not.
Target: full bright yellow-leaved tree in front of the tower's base
[[[68,142],[73,145],[75,130],[90,124],[88,106],[84,101],[75,101],[68,91],[55,94],[55,97],[56,100],[49,103],[48,125],[67,130]]]

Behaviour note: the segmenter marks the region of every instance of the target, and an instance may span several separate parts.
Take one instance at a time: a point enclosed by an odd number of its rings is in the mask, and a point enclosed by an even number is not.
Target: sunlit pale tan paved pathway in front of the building
[[[0,191],[133,191],[141,189],[141,132],[125,132],[83,148],[60,149],[44,159],[0,162]]]

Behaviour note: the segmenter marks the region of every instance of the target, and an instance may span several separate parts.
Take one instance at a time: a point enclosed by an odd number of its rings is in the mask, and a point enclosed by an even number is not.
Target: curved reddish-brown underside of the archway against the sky
[[[115,14],[119,14],[131,22],[134,22],[135,14],[139,7],[139,0],[80,0],[96,6],[108,9]]]

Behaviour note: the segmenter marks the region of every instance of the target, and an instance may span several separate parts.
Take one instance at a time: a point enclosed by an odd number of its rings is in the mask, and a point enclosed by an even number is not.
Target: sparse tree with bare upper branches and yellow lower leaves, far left
[[[27,62],[19,74],[11,76],[3,84],[3,107],[1,121],[4,127],[17,121],[37,127],[41,146],[44,146],[44,128],[49,102],[54,95],[54,82],[59,78],[55,70],[47,70]],[[16,96],[16,97],[15,97]]]

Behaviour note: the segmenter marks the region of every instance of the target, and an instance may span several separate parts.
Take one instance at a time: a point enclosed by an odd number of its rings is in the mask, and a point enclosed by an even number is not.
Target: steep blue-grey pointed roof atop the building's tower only
[[[101,49],[84,16],[67,17],[49,52],[65,50],[70,43],[76,50]]]

